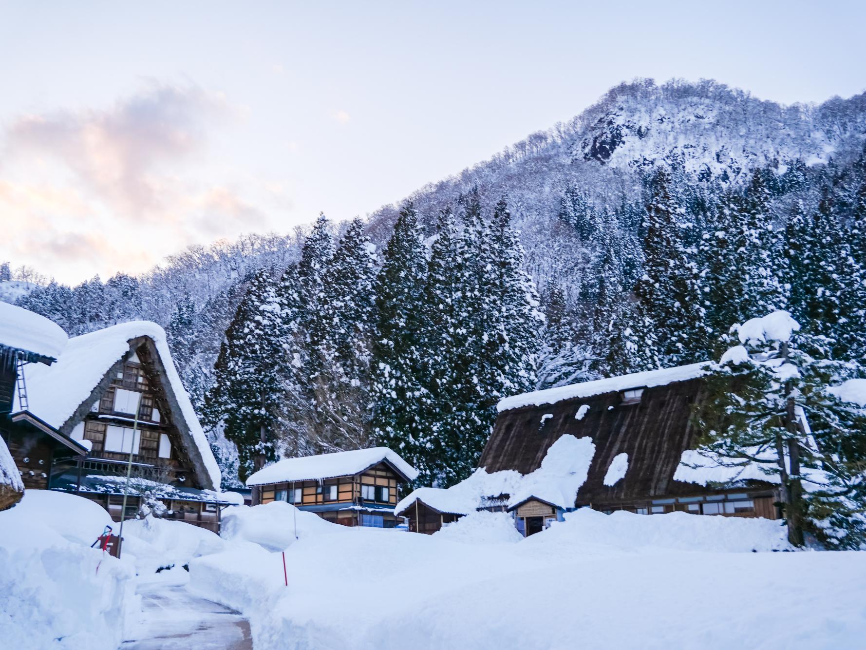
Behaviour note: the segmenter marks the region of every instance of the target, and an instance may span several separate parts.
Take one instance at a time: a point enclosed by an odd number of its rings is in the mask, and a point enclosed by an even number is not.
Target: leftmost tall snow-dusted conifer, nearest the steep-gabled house
[[[223,426],[226,439],[237,445],[242,479],[275,458],[279,434],[286,341],[272,273],[262,269],[249,283],[205,398],[204,419],[210,427]]]

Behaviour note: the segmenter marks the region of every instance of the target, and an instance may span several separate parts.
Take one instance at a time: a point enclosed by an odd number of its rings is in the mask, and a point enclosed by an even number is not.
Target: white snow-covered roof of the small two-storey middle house
[[[413,481],[418,476],[418,471],[403,458],[400,458],[397,452],[391,451],[388,447],[371,447],[370,449],[355,449],[350,452],[283,458],[274,465],[268,465],[268,467],[253,473],[247,479],[247,486],[352,476],[382,462],[391,465],[406,480]]]

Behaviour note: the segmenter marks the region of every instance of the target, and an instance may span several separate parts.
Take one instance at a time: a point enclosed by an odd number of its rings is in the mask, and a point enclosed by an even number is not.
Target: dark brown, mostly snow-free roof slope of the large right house
[[[674,488],[676,466],[692,442],[691,407],[700,392],[701,380],[688,380],[647,388],[637,404],[623,403],[617,392],[505,411],[496,419],[479,465],[487,471],[526,474],[540,467],[560,436],[589,436],[596,453],[578,504],[661,496]],[[578,420],[575,416],[583,405],[590,408]],[[546,415],[553,417],[542,421]],[[611,487],[604,485],[611,461],[622,452],[629,455],[625,478]]]

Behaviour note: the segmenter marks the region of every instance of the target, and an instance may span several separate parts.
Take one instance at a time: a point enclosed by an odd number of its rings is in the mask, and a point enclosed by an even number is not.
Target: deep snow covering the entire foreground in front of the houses
[[[109,523],[99,506],[28,491],[0,512],[0,647],[249,648],[250,633],[256,650],[866,638],[866,553],[789,552],[784,527],[763,519],[585,509],[524,539],[506,513],[475,512],[424,536],[277,502],[229,508],[224,522],[222,539],[127,523],[116,560],[89,548]]]

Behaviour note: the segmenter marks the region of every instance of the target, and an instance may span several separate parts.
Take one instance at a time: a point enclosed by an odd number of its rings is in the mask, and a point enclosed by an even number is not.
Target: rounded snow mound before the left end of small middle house
[[[268,550],[282,550],[296,541],[295,536],[300,539],[334,528],[342,527],[285,501],[272,501],[263,505],[236,505],[226,510],[220,533],[227,541],[253,542]]]

